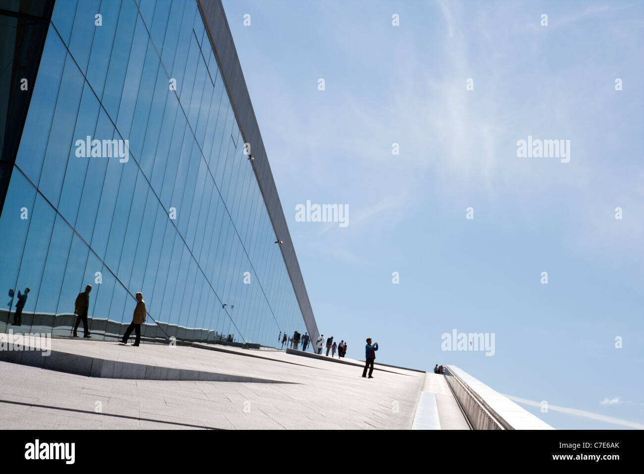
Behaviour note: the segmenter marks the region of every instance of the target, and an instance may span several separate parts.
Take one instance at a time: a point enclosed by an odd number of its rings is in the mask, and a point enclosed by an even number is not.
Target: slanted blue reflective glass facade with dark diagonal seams
[[[70,336],[91,284],[93,339],[137,291],[144,341],[304,333],[243,144],[195,0],[56,0],[0,215],[0,331]]]

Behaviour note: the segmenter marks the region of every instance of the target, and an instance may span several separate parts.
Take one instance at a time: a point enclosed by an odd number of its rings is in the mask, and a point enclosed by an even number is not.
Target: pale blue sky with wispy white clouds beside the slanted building
[[[589,412],[522,402],[555,428],[644,428],[644,5],[223,5],[321,332]],[[529,135],[569,163],[517,157]],[[307,200],[348,226],[296,222]]]

